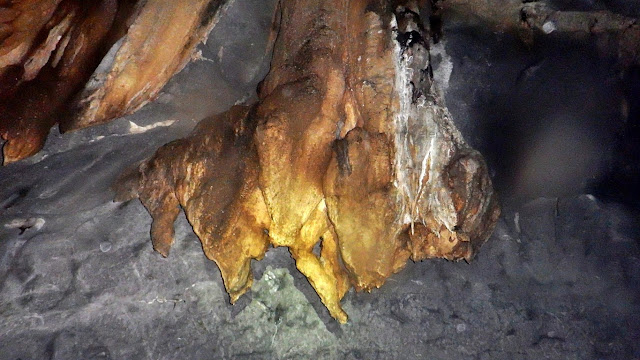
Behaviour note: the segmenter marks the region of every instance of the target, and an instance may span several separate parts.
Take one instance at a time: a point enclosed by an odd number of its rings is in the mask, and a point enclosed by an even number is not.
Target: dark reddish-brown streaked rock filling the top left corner
[[[15,15],[5,19],[8,37],[0,46],[4,164],[42,148],[69,97],[97,65],[116,9],[115,0],[24,1],[3,9]]]

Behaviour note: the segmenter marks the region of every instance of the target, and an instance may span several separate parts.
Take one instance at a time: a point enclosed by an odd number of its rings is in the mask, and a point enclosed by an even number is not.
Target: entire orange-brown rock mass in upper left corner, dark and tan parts
[[[40,151],[56,124],[63,132],[102,124],[153,100],[191,59],[224,4],[0,1],[3,163]]]

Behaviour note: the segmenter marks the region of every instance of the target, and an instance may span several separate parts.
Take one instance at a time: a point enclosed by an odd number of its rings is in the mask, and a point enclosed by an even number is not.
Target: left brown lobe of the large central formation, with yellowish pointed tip
[[[139,196],[153,217],[153,248],[169,255],[180,207],[215,261],[234,302],[251,286],[251,259],[267,250],[270,218],[258,187],[250,110],[236,106],[203,120],[121,179],[116,200]],[[142,177],[140,177],[142,176]]]

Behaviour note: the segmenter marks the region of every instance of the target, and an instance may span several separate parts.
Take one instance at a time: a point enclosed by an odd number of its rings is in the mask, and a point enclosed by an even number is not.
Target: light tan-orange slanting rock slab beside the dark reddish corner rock
[[[98,125],[155,99],[217,22],[224,0],[140,1],[126,35],[72,105],[61,130]]]

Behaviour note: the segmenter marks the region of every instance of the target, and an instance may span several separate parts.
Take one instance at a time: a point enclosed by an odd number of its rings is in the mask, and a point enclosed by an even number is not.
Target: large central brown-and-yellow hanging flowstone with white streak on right
[[[499,208],[432,82],[417,13],[283,1],[260,101],[160,148],[121,177],[117,200],[142,200],[164,256],[181,206],[232,302],[251,259],[288,247],[340,322],[351,286],[377,288],[409,258],[471,260]]]

